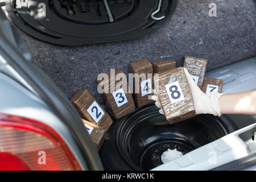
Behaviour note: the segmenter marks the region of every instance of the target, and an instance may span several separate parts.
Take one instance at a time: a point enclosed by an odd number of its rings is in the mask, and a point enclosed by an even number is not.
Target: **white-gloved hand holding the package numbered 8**
[[[196,110],[196,114],[213,114],[220,116],[220,107],[218,105],[218,99],[222,96],[222,93],[209,93],[205,94],[196,85],[191,75],[188,73],[187,69],[184,68],[185,75],[187,76],[188,85],[190,87],[193,102]],[[154,89],[154,96],[151,97],[155,101],[155,105],[159,107],[159,113],[163,114],[162,106],[159,102],[158,93]]]

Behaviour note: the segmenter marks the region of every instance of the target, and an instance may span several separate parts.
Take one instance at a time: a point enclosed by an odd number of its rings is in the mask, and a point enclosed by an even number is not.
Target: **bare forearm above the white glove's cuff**
[[[218,100],[221,114],[256,115],[256,90],[224,94]]]

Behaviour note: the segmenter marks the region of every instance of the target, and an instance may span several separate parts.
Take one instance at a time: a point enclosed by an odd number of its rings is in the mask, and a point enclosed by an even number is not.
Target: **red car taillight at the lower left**
[[[51,127],[34,119],[0,114],[0,170],[81,170]]]

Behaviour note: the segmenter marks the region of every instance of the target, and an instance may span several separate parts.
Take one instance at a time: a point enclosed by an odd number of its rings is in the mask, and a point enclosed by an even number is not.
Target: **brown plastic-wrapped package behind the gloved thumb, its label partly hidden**
[[[192,56],[184,57],[183,67],[188,70],[197,86],[201,89],[204,82],[204,76],[207,69],[207,60]]]

